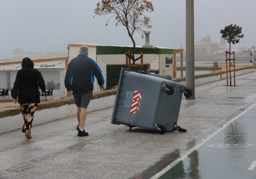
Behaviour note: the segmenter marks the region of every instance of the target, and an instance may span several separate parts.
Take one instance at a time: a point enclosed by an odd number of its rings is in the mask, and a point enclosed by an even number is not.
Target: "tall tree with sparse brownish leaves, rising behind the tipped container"
[[[134,40],[134,32],[141,33],[143,37],[143,28],[152,27],[150,18],[145,16],[145,13],[153,10],[152,3],[147,0],[102,0],[97,3],[94,13],[96,15],[110,15],[106,25],[113,17],[116,26],[121,24],[126,28],[133,44],[133,52],[131,52],[130,58],[135,62],[134,50],[136,42]]]

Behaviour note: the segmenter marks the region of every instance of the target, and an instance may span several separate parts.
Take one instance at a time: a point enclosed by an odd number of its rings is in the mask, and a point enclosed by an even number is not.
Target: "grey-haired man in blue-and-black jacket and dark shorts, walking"
[[[87,46],[80,47],[77,57],[71,59],[66,69],[65,87],[68,94],[72,94],[76,102],[78,118],[78,136],[88,136],[84,125],[86,120],[87,106],[92,96],[94,76],[101,88],[104,85],[104,76],[98,64],[88,55]]]

